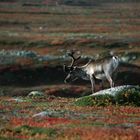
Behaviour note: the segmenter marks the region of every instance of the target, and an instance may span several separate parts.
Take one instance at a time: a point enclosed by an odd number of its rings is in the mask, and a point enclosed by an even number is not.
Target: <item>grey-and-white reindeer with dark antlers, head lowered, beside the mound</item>
[[[103,61],[93,61],[89,62],[83,66],[74,66],[74,63],[81,58],[81,56],[75,58],[74,51],[68,53],[68,56],[72,58],[70,66],[64,65],[64,71],[68,72],[64,82],[75,81],[78,78],[84,80],[90,80],[92,86],[92,93],[95,92],[95,80],[100,79],[103,81],[107,79],[110,83],[110,87],[114,87],[114,81],[112,80],[112,74],[117,69],[119,65],[119,58],[117,56],[112,56],[111,58]]]

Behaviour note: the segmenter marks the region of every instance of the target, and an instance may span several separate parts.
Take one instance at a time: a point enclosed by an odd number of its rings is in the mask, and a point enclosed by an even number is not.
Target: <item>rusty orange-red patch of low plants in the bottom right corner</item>
[[[64,137],[79,137],[81,140],[139,140],[140,133],[136,129],[75,128],[66,132]]]

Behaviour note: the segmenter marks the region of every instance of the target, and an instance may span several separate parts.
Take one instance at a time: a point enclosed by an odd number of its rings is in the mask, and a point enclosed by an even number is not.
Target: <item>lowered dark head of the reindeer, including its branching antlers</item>
[[[77,58],[74,57],[74,51],[70,51],[68,53],[68,56],[70,56],[72,58],[72,62],[70,64],[70,66],[63,66],[64,72],[68,73],[68,75],[66,76],[64,82],[67,83],[69,81],[74,81],[76,80],[77,74],[78,74],[78,68],[77,66],[74,66],[74,63],[79,60],[81,58],[81,56],[78,56]]]

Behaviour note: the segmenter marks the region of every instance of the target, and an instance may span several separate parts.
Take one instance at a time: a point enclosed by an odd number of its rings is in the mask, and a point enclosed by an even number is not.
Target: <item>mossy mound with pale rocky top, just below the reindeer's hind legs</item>
[[[133,105],[140,106],[139,86],[120,86],[103,90],[75,102],[78,106]]]

